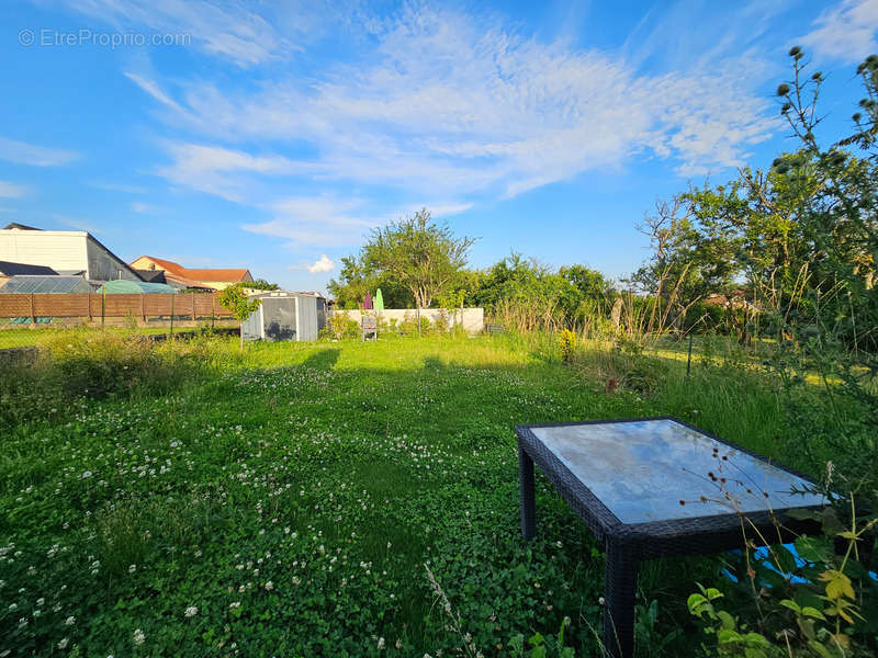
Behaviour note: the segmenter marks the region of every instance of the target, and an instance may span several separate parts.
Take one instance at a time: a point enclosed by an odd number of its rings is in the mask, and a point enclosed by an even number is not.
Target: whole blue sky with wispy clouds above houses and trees
[[[792,146],[792,45],[840,136],[877,29],[878,0],[7,0],[0,223],[324,290],[426,206],[474,266],[620,276],[656,198]]]

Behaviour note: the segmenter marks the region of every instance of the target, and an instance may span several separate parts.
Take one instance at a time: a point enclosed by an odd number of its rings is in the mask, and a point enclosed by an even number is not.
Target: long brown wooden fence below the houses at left
[[[217,294],[0,294],[0,318],[230,318]]]

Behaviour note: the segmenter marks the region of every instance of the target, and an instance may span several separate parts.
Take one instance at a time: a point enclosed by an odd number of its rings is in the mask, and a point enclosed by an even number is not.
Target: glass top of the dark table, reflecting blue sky
[[[669,419],[530,431],[622,523],[824,501],[820,494],[792,492],[813,489],[807,480]]]

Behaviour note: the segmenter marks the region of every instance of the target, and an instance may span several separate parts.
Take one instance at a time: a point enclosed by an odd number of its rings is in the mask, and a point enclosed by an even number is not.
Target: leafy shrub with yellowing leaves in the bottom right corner
[[[853,501],[852,501],[853,504]],[[876,519],[851,520],[845,530],[832,508],[802,511],[800,518],[822,522],[825,535],[800,536],[797,557],[785,546],[763,559],[750,553],[739,574],[738,605],[716,588],[699,586],[688,599],[691,614],[707,635],[709,656],[742,658],[854,658],[878,650],[878,582],[857,559]],[[833,551],[833,537],[845,549]],[[722,606],[721,600],[729,604]]]

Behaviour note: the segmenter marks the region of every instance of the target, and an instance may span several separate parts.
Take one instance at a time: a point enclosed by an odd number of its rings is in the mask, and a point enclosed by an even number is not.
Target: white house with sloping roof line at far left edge
[[[143,281],[128,264],[83,230],[42,230],[10,224],[0,230],[0,260],[50,268],[89,281]]]

